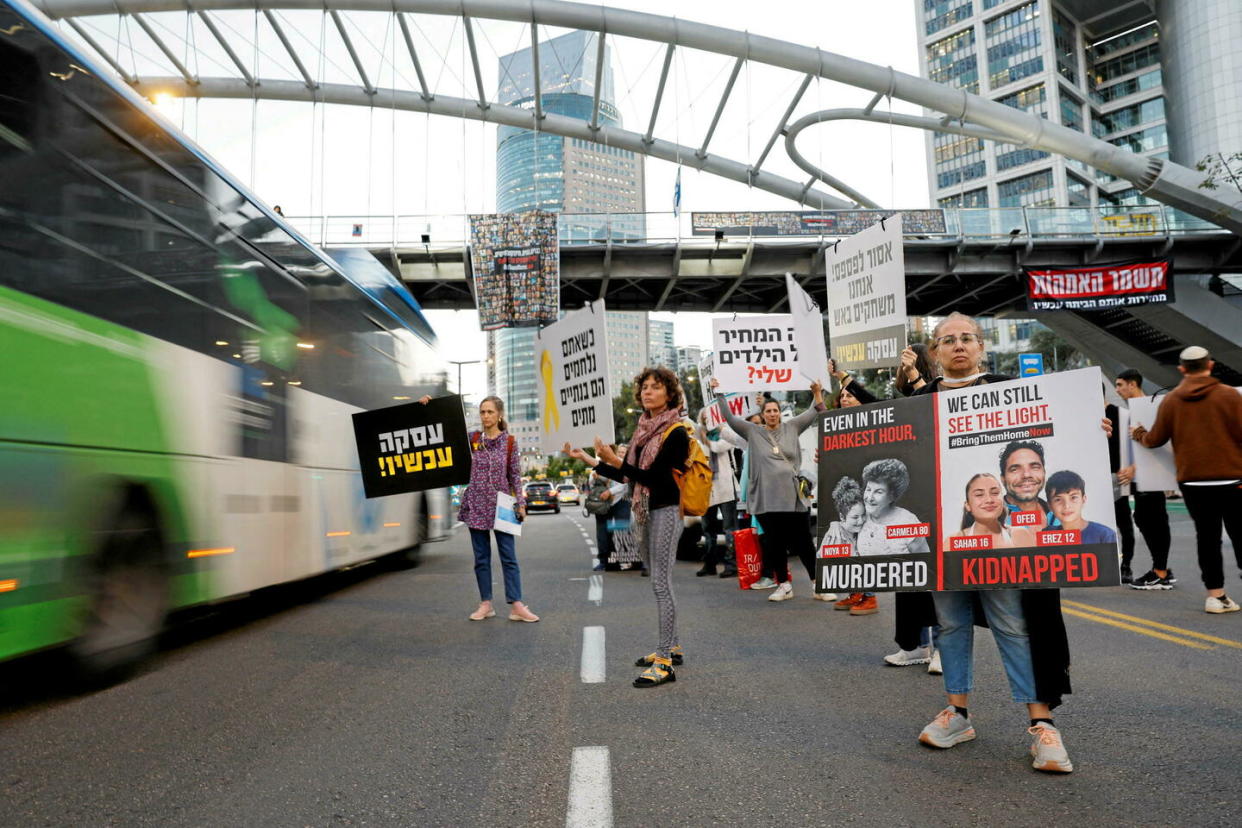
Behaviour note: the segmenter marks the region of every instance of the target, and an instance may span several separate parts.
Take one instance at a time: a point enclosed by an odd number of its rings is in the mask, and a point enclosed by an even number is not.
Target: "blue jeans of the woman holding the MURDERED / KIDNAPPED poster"
[[[1013,700],[1035,704],[1035,665],[1031,638],[1022,614],[1021,590],[980,590],[979,592],[935,592],[935,614],[940,621],[936,644],[944,667],[945,693],[970,693],[974,684],[974,601],[977,595],[984,617],[996,639],[1001,663],[1010,680]]]

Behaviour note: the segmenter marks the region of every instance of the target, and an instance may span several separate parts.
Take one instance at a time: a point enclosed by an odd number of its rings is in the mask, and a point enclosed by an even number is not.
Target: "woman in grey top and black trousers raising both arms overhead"
[[[713,377],[712,391],[715,392],[718,386],[719,382]],[[822,408],[823,386],[812,382],[811,394],[815,396],[815,406]],[[797,437],[811,427],[818,411],[810,407],[787,422],[781,422],[780,403],[769,400],[760,412],[763,425],[755,425],[735,416],[719,397],[717,406],[729,427],[739,437],[744,437],[749,446],[746,510],[759,519],[770,544],[768,549],[774,556],[771,570],[776,591],[768,600],[786,601],[794,597],[794,585],[786,578],[784,566],[790,554],[802,559],[811,582],[815,582],[815,541],[807,521],[810,492],[805,490],[800,472],[802,448]]]

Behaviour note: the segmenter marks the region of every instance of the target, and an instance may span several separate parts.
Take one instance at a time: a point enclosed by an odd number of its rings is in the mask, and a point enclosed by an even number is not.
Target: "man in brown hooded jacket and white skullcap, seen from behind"
[[[1148,448],[1172,439],[1177,488],[1195,521],[1199,569],[1207,587],[1203,610],[1242,610],[1225,595],[1221,526],[1233,541],[1242,569],[1242,394],[1212,376],[1206,348],[1191,345],[1179,355],[1181,382],[1160,403],[1151,431],[1134,426],[1130,434]]]

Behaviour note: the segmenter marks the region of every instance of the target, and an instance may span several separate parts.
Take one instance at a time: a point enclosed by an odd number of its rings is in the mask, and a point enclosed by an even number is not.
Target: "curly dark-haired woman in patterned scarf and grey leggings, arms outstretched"
[[[689,456],[689,426],[681,421],[682,386],[666,367],[648,367],[635,377],[635,396],[642,406],[638,427],[625,461],[596,437],[591,457],[565,443],[565,453],[594,466],[604,477],[631,480],[631,509],[638,530],[642,561],[651,569],[651,588],[660,616],[660,646],[638,659],[647,669],[633,680],[636,688],[676,682],[673,664],[684,658],[677,637],[677,602],[673,597],[673,560],[682,534],[682,494],[676,472]],[[601,462],[602,461],[602,462]]]

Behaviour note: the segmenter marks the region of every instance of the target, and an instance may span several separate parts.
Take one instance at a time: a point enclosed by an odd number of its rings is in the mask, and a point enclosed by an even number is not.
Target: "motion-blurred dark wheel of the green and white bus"
[[[154,515],[125,509],[99,533],[87,564],[82,634],[70,646],[81,678],[124,678],[155,648],[168,613],[164,542]]]

